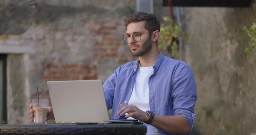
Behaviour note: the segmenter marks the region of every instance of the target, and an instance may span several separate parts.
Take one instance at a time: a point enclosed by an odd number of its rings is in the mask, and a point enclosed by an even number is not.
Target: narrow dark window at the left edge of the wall
[[[0,124],[7,124],[6,55],[0,54]]]

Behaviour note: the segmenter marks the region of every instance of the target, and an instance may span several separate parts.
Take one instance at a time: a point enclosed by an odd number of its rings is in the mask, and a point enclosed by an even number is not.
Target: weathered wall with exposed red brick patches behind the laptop
[[[105,82],[134,60],[121,37],[123,20],[134,11],[134,0],[1,0],[8,124],[31,124],[28,105],[36,87],[39,97],[49,98],[46,81]]]

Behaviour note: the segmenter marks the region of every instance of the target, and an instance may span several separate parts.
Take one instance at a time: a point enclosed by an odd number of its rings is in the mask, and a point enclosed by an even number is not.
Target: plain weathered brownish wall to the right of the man
[[[195,124],[205,135],[254,135],[256,49],[247,59],[249,38],[243,30],[256,22],[251,9],[186,7],[184,14],[190,35],[185,61],[197,82]]]

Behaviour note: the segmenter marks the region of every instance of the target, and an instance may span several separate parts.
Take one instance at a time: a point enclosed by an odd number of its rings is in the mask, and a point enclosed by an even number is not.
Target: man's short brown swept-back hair
[[[152,13],[137,11],[131,14],[131,16],[125,18],[125,26],[127,28],[128,24],[139,21],[146,21],[145,29],[148,29],[150,33],[155,30],[158,30],[160,32],[160,22],[157,17]]]

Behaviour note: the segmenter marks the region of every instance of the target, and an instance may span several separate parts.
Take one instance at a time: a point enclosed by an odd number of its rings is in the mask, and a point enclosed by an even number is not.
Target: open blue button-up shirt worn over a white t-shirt
[[[138,66],[139,60],[121,65],[103,85],[107,108],[112,109],[112,119],[125,119],[117,116],[117,112],[121,103],[128,105]],[[153,68],[154,74],[148,80],[150,110],[161,116],[182,115],[192,129],[197,100],[192,70],[185,62],[168,58],[161,52]],[[159,129],[158,132],[167,134]]]

